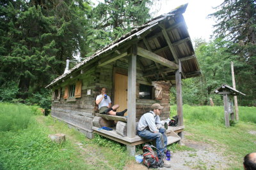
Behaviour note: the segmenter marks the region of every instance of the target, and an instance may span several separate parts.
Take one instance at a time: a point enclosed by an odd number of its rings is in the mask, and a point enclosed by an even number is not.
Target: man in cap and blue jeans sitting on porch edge
[[[167,150],[166,130],[162,128],[159,118],[163,108],[160,104],[155,103],[152,104],[151,111],[142,115],[138,124],[138,136],[145,139],[156,139],[156,148],[160,151],[157,150],[157,157],[160,159],[163,155],[164,167],[171,167],[164,154]]]

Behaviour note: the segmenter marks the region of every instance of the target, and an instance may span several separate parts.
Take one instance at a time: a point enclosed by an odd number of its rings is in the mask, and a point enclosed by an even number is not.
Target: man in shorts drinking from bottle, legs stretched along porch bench
[[[121,112],[116,112],[116,110],[119,108],[118,104],[115,104],[114,106],[111,107],[111,104],[112,104],[111,99],[106,94],[105,87],[101,88],[101,94],[96,97],[96,104],[99,105],[99,113],[100,114],[109,114],[109,115],[116,115],[116,116],[124,117],[124,113],[127,111],[127,109],[125,109]]]

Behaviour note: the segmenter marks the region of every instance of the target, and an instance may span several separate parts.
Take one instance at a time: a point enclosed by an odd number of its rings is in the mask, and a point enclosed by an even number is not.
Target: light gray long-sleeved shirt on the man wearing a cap
[[[151,132],[159,132],[158,129],[162,127],[159,115],[156,115],[154,111],[149,111],[140,118],[138,131],[143,131],[147,127]]]

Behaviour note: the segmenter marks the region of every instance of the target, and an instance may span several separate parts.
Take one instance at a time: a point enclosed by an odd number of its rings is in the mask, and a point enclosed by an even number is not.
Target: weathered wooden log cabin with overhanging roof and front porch
[[[53,80],[47,86],[53,91],[51,116],[76,127],[87,138],[95,132],[124,143],[134,155],[135,146],[147,141],[136,135],[136,122],[153,103],[164,106],[161,120],[169,118],[172,87],[177,90],[179,123],[168,128],[168,144],[180,141],[184,129],[181,80],[201,74],[182,15],[186,6],[136,27]],[[115,127],[105,131],[93,123],[102,116],[95,109],[100,87],[107,88],[112,104],[128,109],[127,117],[118,118],[127,126],[126,136]],[[116,117],[102,116],[104,120]]]

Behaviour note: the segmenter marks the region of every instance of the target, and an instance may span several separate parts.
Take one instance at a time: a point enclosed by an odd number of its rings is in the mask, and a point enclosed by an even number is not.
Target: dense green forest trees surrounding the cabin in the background
[[[63,74],[67,57],[79,62],[147,22],[153,16],[150,9],[159,10],[157,2],[1,1],[0,101],[38,104],[49,111],[51,90],[45,86]],[[232,86],[233,61],[236,89],[246,94],[238,97],[239,105],[256,106],[255,1],[223,0],[209,17],[217,21],[215,31],[211,41],[193,39],[202,76],[182,81],[184,104],[207,105],[210,97],[223,104],[213,91],[223,83]]]

